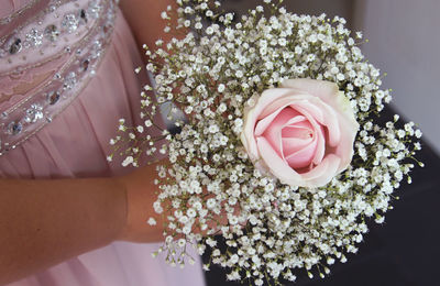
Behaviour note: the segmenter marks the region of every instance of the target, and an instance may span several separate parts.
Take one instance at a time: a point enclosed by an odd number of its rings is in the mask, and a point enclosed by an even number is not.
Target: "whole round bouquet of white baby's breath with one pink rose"
[[[276,285],[301,270],[323,277],[356,253],[367,222],[383,223],[394,190],[411,182],[421,132],[413,122],[398,128],[398,116],[378,123],[391,90],[362,55],[362,33],[338,16],[263,2],[239,20],[208,0],[177,0],[177,11],[162,13],[165,32],[177,13],[182,36],[145,46],[155,86],[142,92],[144,125],[121,121],[131,147],[118,152],[123,165],[168,158],[157,168],[154,209],[166,231],[155,254],[184,265],[189,245],[209,249],[207,270]],[[177,132],[154,120],[165,102]]]

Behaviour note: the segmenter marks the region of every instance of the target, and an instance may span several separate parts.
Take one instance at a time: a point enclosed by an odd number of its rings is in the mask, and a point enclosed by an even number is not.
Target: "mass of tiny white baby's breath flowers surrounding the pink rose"
[[[398,117],[384,127],[376,123],[389,90],[380,89],[380,72],[358,47],[362,34],[352,37],[344,19],[297,15],[265,0],[233,23],[233,14],[216,11],[218,2],[177,2],[177,30],[193,32],[169,43],[157,41],[154,52],[146,48],[157,98],[147,96],[152,88],[145,87],[144,127],[120,125],[133,143],[120,153],[124,165],[139,164],[145,152],[169,157],[157,169],[161,193],[154,207],[167,221],[160,251],[183,265],[188,244],[195,243],[200,254],[209,246],[206,268],[219,264],[230,270],[229,279],[255,285],[295,280],[295,268],[324,276],[329,265],[358,251],[370,218],[384,222],[400,182],[410,183],[408,158],[420,148],[415,143],[420,131],[414,123],[398,129]],[[270,18],[265,10],[272,11]],[[163,18],[173,12],[168,9]],[[260,174],[239,139],[243,109],[253,105],[254,95],[289,78],[336,82],[361,125],[351,166],[324,187],[292,187]],[[158,106],[169,101],[187,116],[176,120],[180,132],[143,136],[145,128],[157,127]],[[176,111],[172,108],[168,118]],[[157,146],[162,139],[167,144]],[[226,251],[213,239],[218,234]]]

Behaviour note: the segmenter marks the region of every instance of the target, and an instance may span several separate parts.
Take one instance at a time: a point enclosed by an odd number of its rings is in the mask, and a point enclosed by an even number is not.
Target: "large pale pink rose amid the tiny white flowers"
[[[320,187],[350,165],[358,129],[336,84],[289,79],[244,110],[241,141],[263,173],[290,186]]]

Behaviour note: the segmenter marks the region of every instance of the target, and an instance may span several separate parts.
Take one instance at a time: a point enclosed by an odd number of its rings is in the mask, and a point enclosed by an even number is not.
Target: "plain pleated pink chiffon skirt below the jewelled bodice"
[[[111,153],[109,140],[116,135],[118,120],[125,118],[131,124],[139,117],[141,82],[147,78],[133,72],[142,65],[136,47],[118,11],[112,43],[96,76],[52,123],[0,156],[0,177],[78,178],[129,172],[106,157]],[[114,242],[9,286],[205,285],[197,254],[193,255],[195,266],[170,267],[164,257],[152,257],[160,245]]]

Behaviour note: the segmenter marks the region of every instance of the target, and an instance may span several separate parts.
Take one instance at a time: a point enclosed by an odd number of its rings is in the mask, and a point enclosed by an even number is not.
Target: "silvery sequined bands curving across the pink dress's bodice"
[[[52,122],[95,75],[95,70],[111,42],[117,6],[114,0],[82,2],[86,3],[86,7],[78,7],[76,11],[61,14],[59,22],[42,26],[34,25],[24,33],[24,36],[18,36],[20,33],[15,33],[4,43],[7,50],[2,51],[13,57],[23,48],[40,48],[45,43],[44,41],[55,43],[59,41],[63,33],[76,33],[79,28],[87,25],[87,33],[62,51],[63,55],[68,55],[68,59],[53,78],[35,88],[32,95],[26,95],[25,100],[2,111],[0,116],[0,155],[25,142]],[[56,13],[57,9],[52,9],[51,12]],[[102,26],[109,29],[105,31]],[[8,55],[6,56],[8,59]]]

